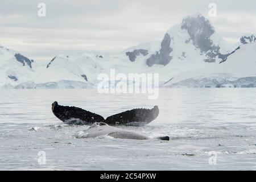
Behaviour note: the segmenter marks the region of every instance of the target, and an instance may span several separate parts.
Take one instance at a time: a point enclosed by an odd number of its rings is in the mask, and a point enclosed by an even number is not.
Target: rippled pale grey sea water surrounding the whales
[[[94,89],[0,90],[0,169],[240,170],[256,169],[255,89],[160,89],[147,94],[99,94]],[[122,126],[170,141],[76,138],[89,126],[69,126],[51,104],[103,117],[159,106],[146,126]],[[32,129],[31,129],[32,128]]]

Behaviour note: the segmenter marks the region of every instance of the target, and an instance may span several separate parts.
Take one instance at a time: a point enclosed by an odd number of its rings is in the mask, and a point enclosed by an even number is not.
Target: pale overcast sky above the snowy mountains
[[[38,4],[46,4],[46,17]],[[209,17],[209,3],[217,16]],[[230,42],[256,32],[256,1],[0,0],[0,45],[35,60],[87,49],[120,52],[163,38],[184,16],[199,12]]]

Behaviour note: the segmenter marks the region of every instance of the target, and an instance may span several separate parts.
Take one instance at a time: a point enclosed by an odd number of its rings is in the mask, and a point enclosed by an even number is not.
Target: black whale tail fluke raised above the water
[[[74,125],[90,125],[105,122],[108,125],[144,125],[158,117],[158,106],[152,109],[132,109],[114,114],[106,119],[101,115],[74,106],[61,106],[57,101],[52,103],[52,112],[63,122]]]

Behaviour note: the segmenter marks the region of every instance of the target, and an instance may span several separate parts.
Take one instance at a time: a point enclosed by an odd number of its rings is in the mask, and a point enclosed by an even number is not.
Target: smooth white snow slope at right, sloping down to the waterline
[[[180,73],[166,87],[256,87],[256,42],[245,44],[212,67]]]

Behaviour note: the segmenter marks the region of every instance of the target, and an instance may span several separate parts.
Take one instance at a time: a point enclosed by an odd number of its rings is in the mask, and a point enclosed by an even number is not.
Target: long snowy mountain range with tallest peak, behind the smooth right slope
[[[231,64],[230,57],[255,40],[250,35],[242,36],[237,44],[226,42],[208,19],[196,13],[171,27],[162,41],[142,43],[117,54],[85,51],[57,55],[43,63],[0,47],[0,88],[93,88],[98,85],[97,76],[110,69],[125,74],[159,73],[160,86],[174,86],[195,70]]]

